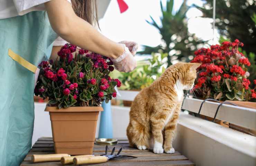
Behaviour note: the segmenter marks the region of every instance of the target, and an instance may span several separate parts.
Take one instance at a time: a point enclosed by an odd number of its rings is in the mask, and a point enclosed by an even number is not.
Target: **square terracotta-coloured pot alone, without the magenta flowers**
[[[50,114],[55,153],[91,155],[99,111],[102,107],[46,106]]]

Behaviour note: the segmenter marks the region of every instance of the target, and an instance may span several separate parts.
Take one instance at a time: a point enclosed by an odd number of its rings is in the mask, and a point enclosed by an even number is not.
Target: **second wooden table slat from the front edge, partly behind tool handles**
[[[183,155],[155,155],[155,156],[136,156],[138,158],[116,158],[115,161],[117,162],[145,162],[145,161],[173,161],[173,160],[188,160]],[[31,161],[31,156],[26,156],[24,161]],[[112,161],[112,160],[111,160]]]

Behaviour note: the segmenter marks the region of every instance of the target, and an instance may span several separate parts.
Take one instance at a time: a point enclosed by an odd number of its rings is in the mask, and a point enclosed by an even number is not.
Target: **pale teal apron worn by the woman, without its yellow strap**
[[[31,149],[34,73],[8,49],[38,66],[48,60],[57,34],[45,11],[0,20],[0,166],[18,166]]]

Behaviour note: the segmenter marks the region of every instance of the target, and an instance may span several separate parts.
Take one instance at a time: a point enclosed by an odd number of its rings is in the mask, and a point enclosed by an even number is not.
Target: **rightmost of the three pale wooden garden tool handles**
[[[75,157],[73,159],[73,163],[75,165],[79,165],[79,164],[97,164],[97,163],[105,163],[107,161],[108,161],[108,157],[106,157],[106,156]]]

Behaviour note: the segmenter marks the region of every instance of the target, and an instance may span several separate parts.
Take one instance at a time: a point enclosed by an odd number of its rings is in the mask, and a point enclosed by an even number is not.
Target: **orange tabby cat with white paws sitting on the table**
[[[183,101],[183,90],[193,88],[196,68],[200,65],[176,63],[139,92],[131,105],[127,127],[130,146],[140,150],[151,149],[149,142],[153,138],[154,153],[174,153],[172,141]]]

